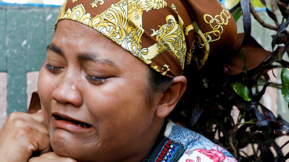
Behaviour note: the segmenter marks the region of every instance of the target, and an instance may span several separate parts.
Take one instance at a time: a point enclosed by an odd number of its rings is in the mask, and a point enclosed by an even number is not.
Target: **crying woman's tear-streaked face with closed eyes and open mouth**
[[[80,161],[144,158],[161,127],[147,104],[147,71],[96,30],[60,21],[38,80],[53,150]]]

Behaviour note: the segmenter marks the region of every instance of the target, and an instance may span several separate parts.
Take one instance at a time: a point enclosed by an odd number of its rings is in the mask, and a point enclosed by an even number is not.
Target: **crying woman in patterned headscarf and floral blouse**
[[[0,130],[1,161],[236,161],[168,115],[184,70],[237,37],[217,0],[66,0],[30,114]]]

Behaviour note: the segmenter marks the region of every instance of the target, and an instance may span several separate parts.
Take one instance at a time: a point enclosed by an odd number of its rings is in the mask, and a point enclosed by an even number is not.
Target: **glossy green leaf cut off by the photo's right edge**
[[[282,68],[281,71],[282,89],[281,93],[286,102],[289,102],[289,68]]]

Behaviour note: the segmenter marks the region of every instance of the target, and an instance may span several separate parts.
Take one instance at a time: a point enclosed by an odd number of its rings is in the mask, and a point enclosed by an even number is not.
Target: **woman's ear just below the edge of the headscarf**
[[[168,90],[161,94],[161,98],[156,106],[155,115],[159,118],[165,118],[173,111],[179,99],[186,91],[187,79],[184,76],[177,76],[173,79]]]

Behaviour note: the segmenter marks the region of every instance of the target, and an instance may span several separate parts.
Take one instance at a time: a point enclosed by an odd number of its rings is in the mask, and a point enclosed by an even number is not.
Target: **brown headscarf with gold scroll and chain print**
[[[58,20],[101,32],[160,74],[201,69],[216,49],[233,48],[237,27],[218,0],[66,0]]]

